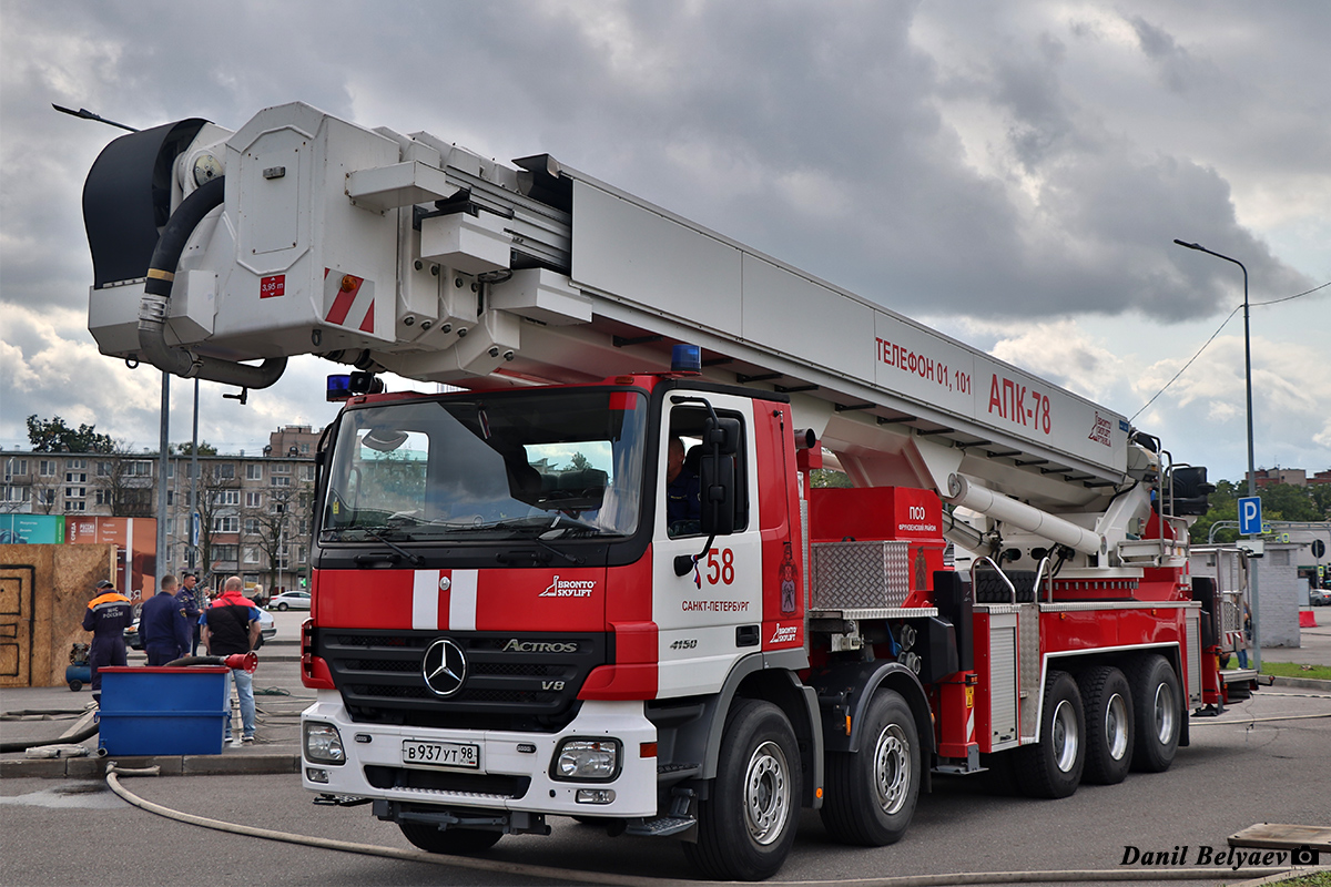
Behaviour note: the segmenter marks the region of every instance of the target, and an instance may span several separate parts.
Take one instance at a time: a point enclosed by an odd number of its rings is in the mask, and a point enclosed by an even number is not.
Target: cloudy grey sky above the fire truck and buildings
[[[1137,414],[1242,303],[1331,282],[1331,4],[0,0],[0,445],[156,447],[161,376],[97,354],[80,193],[118,134],[306,101],[550,153]],[[1331,468],[1331,287],[1252,309],[1259,467]],[[326,362],[201,438],[325,424]],[[172,386],[188,440],[193,383]],[[1137,423],[1246,465],[1242,311]]]

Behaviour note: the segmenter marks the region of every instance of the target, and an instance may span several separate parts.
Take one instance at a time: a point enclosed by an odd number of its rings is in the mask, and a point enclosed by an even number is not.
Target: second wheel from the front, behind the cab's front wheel
[[[920,738],[910,706],[878,690],[861,725],[860,750],[827,758],[823,824],[845,844],[882,847],[901,840],[920,798]]]

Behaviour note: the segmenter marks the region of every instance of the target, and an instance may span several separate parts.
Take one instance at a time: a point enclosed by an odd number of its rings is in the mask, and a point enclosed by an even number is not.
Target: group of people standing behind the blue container
[[[133,604],[106,580],[97,582],[97,594],[88,601],[83,628],[92,632],[88,665],[92,669],[92,693],[101,698],[101,674],[108,665],[126,665],[125,629],[134,624]],[[258,642],[260,610],[245,597],[240,576],[222,584],[214,600],[198,588],[198,577],[185,573],[177,582],[162,576],[161,588],[140,608],[138,637],[142,640],[148,665],[168,665],[197,656],[202,644],[210,657],[249,653]],[[254,676],[232,669],[228,681],[236,681],[241,707],[241,742],[254,742]],[[226,688],[230,698],[230,685]],[[226,719],[225,739],[232,739],[232,722]]]

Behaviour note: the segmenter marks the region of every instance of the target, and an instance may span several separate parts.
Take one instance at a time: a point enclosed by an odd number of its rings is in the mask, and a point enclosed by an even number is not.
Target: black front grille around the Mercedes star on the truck
[[[450,638],[466,656],[462,689],[437,696],[421,666],[426,649]],[[514,644],[518,641],[518,644]],[[572,652],[564,652],[572,645]],[[578,711],[587,674],[612,658],[604,633],[357,632],[317,629],[354,721],[421,727],[554,733]],[[559,652],[551,652],[559,650]]]

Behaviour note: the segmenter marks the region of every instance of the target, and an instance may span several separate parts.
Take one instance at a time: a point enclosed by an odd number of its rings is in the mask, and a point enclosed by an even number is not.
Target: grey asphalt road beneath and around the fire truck
[[[287,670],[294,678],[294,662],[265,664],[264,682],[285,681]],[[294,689],[303,692],[298,681]],[[1186,862],[1195,864],[1201,847],[1223,850],[1230,834],[1254,823],[1331,824],[1327,715],[1328,693],[1270,688],[1222,718],[1194,718],[1193,745],[1167,773],[1133,774],[1119,786],[1082,786],[1063,801],[1006,797],[978,778],[937,779],[934,793],[921,798],[910,832],[893,847],[840,847],[827,839],[817,814],[805,814],[795,851],[773,883],[1119,868],[1127,846],[1166,852],[1187,847]],[[375,821],[367,807],[313,806],[294,775],[125,778],[124,785],[174,810],[410,848],[397,827]],[[551,824],[552,836],[504,838],[486,858],[623,876],[688,876],[669,840],[610,839],[564,819]],[[321,887],[566,883],[221,834],[132,807],[104,782],[0,781],[3,884],[176,887],[200,878]],[[1193,883],[1243,879],[1242,870],[1218,867],[1214,880]]]

